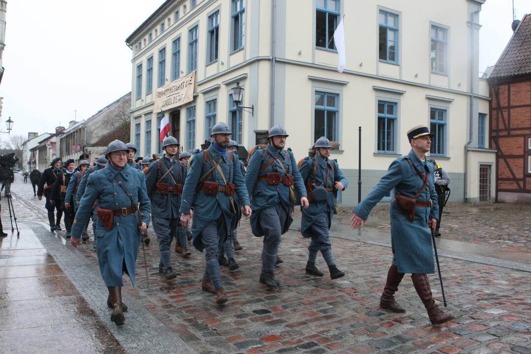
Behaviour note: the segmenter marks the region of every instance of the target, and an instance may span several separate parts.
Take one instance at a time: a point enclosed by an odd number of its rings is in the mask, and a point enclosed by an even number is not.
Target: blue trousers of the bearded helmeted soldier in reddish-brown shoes
[[[219,243],[226,237],[225,219],[220,216],[215,222],[207,225],[201,231],[201,241],[204,245],[205,268],[203,279],[210,279],[216,289],[223,287],[219,272]]]

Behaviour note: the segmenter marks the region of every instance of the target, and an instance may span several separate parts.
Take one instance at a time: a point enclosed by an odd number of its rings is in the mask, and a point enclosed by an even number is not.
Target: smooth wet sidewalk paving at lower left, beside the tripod
[[[124,353],[32,229],[20,226],[22,237],[0,238],[1,352]]]

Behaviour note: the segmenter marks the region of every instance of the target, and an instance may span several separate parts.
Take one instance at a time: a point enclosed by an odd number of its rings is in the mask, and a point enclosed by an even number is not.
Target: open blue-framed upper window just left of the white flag
[[[315,47],[336,49],[333,32],[339,23],[339,0],[316,0]]]

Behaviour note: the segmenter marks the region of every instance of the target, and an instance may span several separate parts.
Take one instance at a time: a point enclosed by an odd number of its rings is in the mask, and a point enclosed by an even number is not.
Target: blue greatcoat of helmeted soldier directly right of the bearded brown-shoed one
[[[284,178],[284,170],[286,170],[286,173],[293,175],[295,189],[299,196],[307,196],[304,181],[301,173],[297,169],[297,162],[293,153],[285,149],[278,151],[271,144],[267,145],[266,150],[264,154],[263,148],[260,146],[255,148],[247,166],[247,174],[245,175],[245,184],[252,196],[251,208],[253,209],[253,214],[251,215],[251,228],[253,234],[257,237],[263,236],[262,228],[258,222],[260,210],[272,207],[279,202],[286,208],[286,214],[288,215],[285,225],[282,225],[282,234],[288,231],[289,225],[293,222],[290,215],[290,209],[293,207],[293,203],[289,200],[289,187],[282,182],[280,184],[268,184],[267,181],[259,181],[259,177],[265,177],[269,172],[278,172],[280,173],[280,178]],[[267,164],[271,156],[275,161],[260,173],[262,164]],[[284,166],[284,170],[282,170],[277,158]]]

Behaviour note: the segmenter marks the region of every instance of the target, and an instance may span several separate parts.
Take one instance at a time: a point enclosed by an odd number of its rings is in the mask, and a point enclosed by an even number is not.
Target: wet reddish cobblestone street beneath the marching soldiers
[[[46,222],[44,200],[33,197],[31,184],[21,183],[20,175],[17,178],[12,193],[19,224],[44,228],[44,224],[31,223]],[[396,294],[406,313],[379,309],[392,257],[385,244],[390,238],[387,208],[376,208],[369,225],[361,232],[346,226],[350,214],[341,211],[331,232],[336,264],[346,272],[338,280],[330,280],[321,256],[316,265],[325,273],[324,277],[305,275],[308,241],[296,231],[300,225],[296,217],[293,229],[284,235],[280,245],[279,255],[284,263],[277,268],[277,279],[282,284],[278,290],[259,284],[262,239],[252,236],[249,223],[242,221],[238,236],[243,250],[236,252],[240,268],[231,272],[222,267],[229,297],[224,306],[215,305],[213,295],[201,291],[204,255],[190,245],[191,258],[172,255],[178,272],[176,279],[167,281],[158,275],[158,244],[150,229],[151,244],[146,247],[149,290],[140,250],[137,284],[135,288],[129,282],[125,284],[124,302],[141,306],[164,324],[156,330],[152,323],[145,325],[148,336],[164,331],[178,335],[185,346],[175,352],[531,353],[531,205],[458,203],[446,207],[443,236],[438,242],[443,254],[440,261],[448,301],[446,310],[456,318],[440,326],[430,324],[409,276],[404,277]],[[519,212],[514,213],[515,210]],[[520,215],[527,217],[521,219]],[[9,215],[5,198],[2,221],[7,232]],[[47,234],[44,237],[55,238],[49,229]],[[64,243],[65,253],[79,252],[93,265],[86,272],[97,271],[92,237],[77,251]],[[475,251],[479,245],[483,247],[482,254]],[[460,255],[453,256],[454,251]],[[0,265],[2,262],[0,259]],[[75,279],[68,277],[76,284]],[[442,307],[439,279],[430,275],[430,282],[436,302]],[[101,294],[106,292],[102,280],[95,284],[101,288],[98,288]],[[79,287],[78,290],[86,296]],[[101,307],[105,300],[104,295],[96,297]],[[0,304],[3,302],[0,296]],[[136,324],[142,328],[142,315],[125,315],[126,324],[119,331],[108,318],[101,318],[122,345],[122,337],[118,336],[133,331],[132,323],[134,328],[138,328]],[[0,330],[0,337],[2,333]],[[66,335],[61,335],[67,340]],[[172,346],[168,338],[164,340]]]

